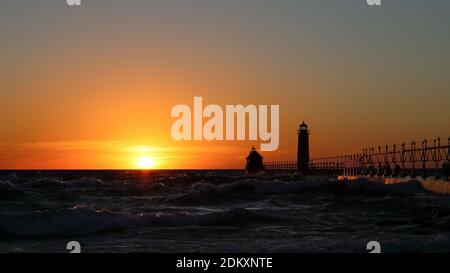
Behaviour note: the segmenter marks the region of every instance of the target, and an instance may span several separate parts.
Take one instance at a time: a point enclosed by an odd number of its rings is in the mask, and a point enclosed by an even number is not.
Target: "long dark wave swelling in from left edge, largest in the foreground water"
[[[281,220],[287,221],[281,217],[243,208],[204,214],[157,212],[134,215],[75,207],[59,212],[0,214],[0,235],[3,237],[67,237],[120,231],[134,226],[243,225]]]

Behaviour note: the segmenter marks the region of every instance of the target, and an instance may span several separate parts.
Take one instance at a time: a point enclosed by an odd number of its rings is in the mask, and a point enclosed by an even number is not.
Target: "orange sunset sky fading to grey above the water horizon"
[[[243,168],[177,104],[279,104],[311,156],[450,135],[450,1],[0,0],[0,169]]]

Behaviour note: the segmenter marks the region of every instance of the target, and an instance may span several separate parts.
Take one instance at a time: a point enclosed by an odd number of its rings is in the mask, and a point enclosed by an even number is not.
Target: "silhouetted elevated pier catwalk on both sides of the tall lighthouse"
[[[413,141],[400,146],[384,145],[365,148],[361,153],[314,158],[309,162],[311,175],[435,176],[448,178],[450,137],[443,143]],[[295,171],[296,161],[268,162],[267,171]]]

